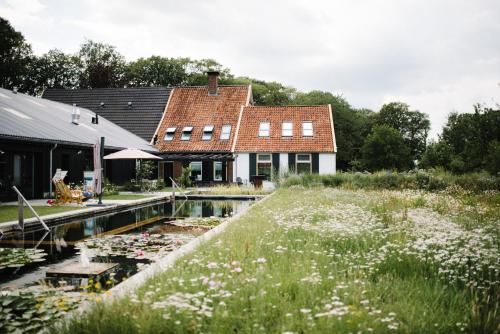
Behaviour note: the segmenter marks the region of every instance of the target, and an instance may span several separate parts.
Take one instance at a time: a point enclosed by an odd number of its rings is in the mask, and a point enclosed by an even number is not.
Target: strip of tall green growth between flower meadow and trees
[[[445,189],[461,188],[469,192],[480,193],[485,190],[500,191],[500,177],[487,173],[469,173],[455,175],[444,171],[419,172],[378,172],[337,173],[334,175],[291,175],[281,181],[284,187],[290,186],[325,186],[341,187],[346,189],[414,189],[440,191]]]

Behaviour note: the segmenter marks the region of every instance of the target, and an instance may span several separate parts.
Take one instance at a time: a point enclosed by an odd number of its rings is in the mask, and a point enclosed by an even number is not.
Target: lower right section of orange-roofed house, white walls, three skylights
[[[334,174],[330,105],[247,106],[234,143],[234,177],[243,183],[275,172]]]

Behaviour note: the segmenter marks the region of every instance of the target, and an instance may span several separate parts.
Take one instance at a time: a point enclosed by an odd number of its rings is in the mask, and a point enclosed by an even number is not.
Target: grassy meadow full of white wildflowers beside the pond
[[[500,202],[291,187],[67,333],[492,333]]]

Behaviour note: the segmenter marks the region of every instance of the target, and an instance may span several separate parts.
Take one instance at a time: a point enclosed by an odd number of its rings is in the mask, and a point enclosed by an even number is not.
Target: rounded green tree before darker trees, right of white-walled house
[[[387,125],[377,125],[361,148],[363,165],[371,171],[405,170],[412,166],[410,149],[401,133]]]

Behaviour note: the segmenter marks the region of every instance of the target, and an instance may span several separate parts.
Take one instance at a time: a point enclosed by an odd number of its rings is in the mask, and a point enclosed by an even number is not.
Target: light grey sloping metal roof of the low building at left
[[[71,122],[73,107],[67,104],[0,88],[0,138],[91,146],[105,137],[106,147],[156,152],[148,142],[104,117],[92,124],[94,113],[78,109],[76,125]]]

